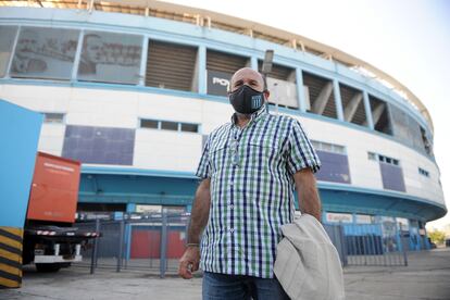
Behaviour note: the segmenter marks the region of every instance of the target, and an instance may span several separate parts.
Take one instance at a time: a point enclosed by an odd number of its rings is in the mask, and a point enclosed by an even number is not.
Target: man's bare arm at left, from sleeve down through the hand
[[[197,188],[196,198],[193,200],[190,213],[190,222],[188,227],[187,248],[179,260],[178,274],[185,279],[192,278],[192,272],[199,270],[200,263],[200,235],[207,226],[210,215],[210,192],[211,179],[204,179]]]

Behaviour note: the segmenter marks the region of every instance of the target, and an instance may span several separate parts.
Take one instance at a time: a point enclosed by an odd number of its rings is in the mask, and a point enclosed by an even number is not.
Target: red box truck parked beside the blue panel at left
[[[38,152],[25,221],[23,264],[57,272],[82,261],[82,247],[98,236],[73,227],[80,163]]]

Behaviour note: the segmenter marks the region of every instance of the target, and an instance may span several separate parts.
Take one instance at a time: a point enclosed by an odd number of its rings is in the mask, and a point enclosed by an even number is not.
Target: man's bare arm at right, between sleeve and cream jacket
[[[313,215],[321,222],[322,204],[318,198],[315,177],[311,168],[303,168],[293,174],[300,211]]]

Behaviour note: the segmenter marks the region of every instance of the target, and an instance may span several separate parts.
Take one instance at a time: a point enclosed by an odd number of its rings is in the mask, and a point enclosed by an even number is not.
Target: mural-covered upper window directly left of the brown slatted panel
[[[138,84],[142,37],[86,32],[83,38],[78,79]]]

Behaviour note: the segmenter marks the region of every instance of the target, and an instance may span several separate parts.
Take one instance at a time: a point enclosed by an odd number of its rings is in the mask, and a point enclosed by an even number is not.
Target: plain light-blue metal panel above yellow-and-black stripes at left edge
[[[0,226],[23,227],[43,115],[0,100]]]

